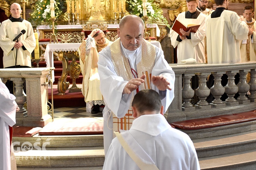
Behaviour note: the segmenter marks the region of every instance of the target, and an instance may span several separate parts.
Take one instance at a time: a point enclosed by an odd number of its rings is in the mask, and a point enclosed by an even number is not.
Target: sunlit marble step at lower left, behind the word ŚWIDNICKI
[[[104,164],[103,147],[57,147],[46,150],[17,151],[17,167],[101,167]]]

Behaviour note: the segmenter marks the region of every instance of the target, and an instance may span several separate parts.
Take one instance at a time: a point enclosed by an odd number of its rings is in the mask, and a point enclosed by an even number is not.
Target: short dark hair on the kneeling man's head
[[[162,103],[159,94],[152,89],[140,90],[133,98],[132,107],[136,107],[140,115],[145,111],[156,111],[160,113]]]

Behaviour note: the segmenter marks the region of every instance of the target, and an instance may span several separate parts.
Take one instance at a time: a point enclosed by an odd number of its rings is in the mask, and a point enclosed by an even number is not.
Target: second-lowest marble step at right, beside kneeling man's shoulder
[[[256,149],[256,130],[225,136],[193,139],[198,158]]]

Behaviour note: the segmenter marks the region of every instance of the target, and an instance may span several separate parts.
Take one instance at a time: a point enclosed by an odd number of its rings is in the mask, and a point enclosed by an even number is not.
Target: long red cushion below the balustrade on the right
[[[171,123],[173,126],[183,130],[196,130],[203,128],[213,128],[217,126],[242,123],[256,120],[255,111],[238,114],[220,115],[210,118],[191,119]]]

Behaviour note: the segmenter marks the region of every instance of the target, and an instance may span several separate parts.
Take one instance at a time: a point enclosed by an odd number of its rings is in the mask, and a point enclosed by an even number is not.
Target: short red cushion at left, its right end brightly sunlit
[[[40,127],[13,126],[13,136],[30,137],[37,134],[41,129]]]

